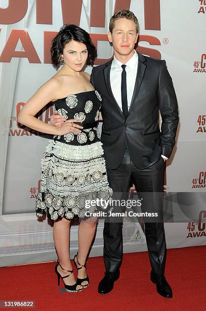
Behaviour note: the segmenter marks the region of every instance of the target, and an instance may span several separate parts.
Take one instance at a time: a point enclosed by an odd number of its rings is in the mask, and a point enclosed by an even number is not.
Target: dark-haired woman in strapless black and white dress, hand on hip
[[[96,210],[94,206],[87,210],[86,200],[109,199],[112,194],[97,128],[101,96],[90,83],[90,75],[82,71],[86,63],[94,64],[97,52],[84,29],[64,25],[53,39],[51,55],[53,65],[63,66],[24,105],[18,121],[36,131],[54,135],[41,163],[36,213],[37,216],[47,213],[54,220],[58,285],[61,277],[68,292],[79,292],[89,285],[86,260],[97,223],[95,217],[86,217],[86,211]],[[51,101],[58,114],[66,118],[59,127],[34,117]],[[77,281],[69,256],[70,222],[76,217],[81,219],[78,253],[74,257]]]

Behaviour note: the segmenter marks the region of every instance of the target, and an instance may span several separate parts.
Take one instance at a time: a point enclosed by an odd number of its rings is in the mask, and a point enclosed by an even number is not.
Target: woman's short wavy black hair
[[[97,50],[90,35],[83,29],[76,25],[68,24],[63,25],[57,36],[52,40],[51,47],[51,60],[55,67],[60,65],[60,56],[63,53],[63,49],[67,43],[71,40],[84,43],[88,49],[87,64],[94,65],[94,60],[97,57]]]

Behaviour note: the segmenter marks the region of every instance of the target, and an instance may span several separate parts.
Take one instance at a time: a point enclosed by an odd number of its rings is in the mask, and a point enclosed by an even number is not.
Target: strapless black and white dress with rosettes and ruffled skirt
[[[36,214],[47,213],[52,220],[84,218],[86,200],[112,196],[97,127],[101,96],[96,90],[69,95],[54,102],[58,114],[76,119],[84,129],[79,134],[54,136],[41,162],[40,191],[36,198]],[[87,213],[88,214],[88,213]]]

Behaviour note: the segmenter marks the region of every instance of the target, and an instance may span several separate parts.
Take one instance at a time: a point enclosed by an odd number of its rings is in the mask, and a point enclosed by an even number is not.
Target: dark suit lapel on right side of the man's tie
[[[139,91],[140,86],[142,84],[142,80],[144,78],[144,73],[145,73],[145,70],[146,70],[146,67],[147,67],[144,64],[145,61],[146,61],[145,56],[140,54],[140,53],[138,53],[137,78],[136,78],[136,82],[135,82],[135,88],[134,88],[133,97],[132,97],[132,101],[131,101],[131,105],[130,105],[130,109],[129,109],[128,115],[131,112],[132,106],[134,105],[134,102],[135,102],[135,100],[137,98],[138,91]]]

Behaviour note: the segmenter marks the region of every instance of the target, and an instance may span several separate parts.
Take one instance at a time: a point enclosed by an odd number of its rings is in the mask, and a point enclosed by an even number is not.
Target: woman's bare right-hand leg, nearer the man
[[[77,260],[80,265],[86,263],[86,259],[92,244],[97,226],[97,217],[90,217],[87,220],[81,220],[78,227],[78,256]],[[77,267],[80,267],[76,262]],[[78,277],[87,277],[86,268],[78,270]],[[87,285],[87,281],[81,283],[81,285]]]

